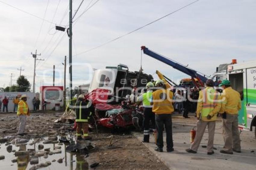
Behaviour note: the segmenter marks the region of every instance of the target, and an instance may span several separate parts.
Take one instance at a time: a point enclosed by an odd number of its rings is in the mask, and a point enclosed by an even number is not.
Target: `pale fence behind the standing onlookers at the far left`
[[[0,100],[2,101],[5,96],[7,97],[7,99],[9,99],[9,103],[8,103],[8,111],[12,112],[14,109],[14,103],[12,102],[12,100],[16,97],[16,96],[20,96],[26,94],[27,95],[27,104],[29,106],[29,110],[33,110],[33,98],[36,96],[35,93],[32,92],[0,92]],[[3,103],[1,106],[1,111],[3,111]]]

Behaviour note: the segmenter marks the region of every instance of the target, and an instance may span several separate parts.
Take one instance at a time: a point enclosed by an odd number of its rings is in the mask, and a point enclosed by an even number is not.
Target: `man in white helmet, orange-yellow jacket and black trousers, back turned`
[[[155,86],[158,90],[152,93],[150,105],[153,105],[152,111],[155,113],[156,130],[157,130],[157,147],[155,151],[163,152],[163,130],[165,126],[167,152],[173,151],[172,137],[172,117],[173,109],[173,92],[166,89],[163,80],[157,80]]]

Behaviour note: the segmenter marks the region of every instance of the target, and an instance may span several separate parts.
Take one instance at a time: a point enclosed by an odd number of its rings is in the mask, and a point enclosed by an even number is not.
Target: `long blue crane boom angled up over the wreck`
[[[167,57],[164,57],[158,53],[155,53],[154,51],[152,50],[149,50],[147,47],[145,46],[141,46],[141,50],[143,50],[143,53],[144,54],[147,54],[148,56],[151,56],[161,62],[164,62],[165,64],[167,65],[170,65],[172,66],[173,68],[185,73],[185,74],[188,74],[189,76],[191,76],[192,78],[197,78],[198,81],[201,83],[201,82],[204,82],[206,83],[206,81],[208,80],[208,78],[202,76],[201,74],[198,74],[197,71],[195,70],[192,70],[184,65],[181,65],[179,64],[178,62],[175,62],[171,59],[168,59]],[[203,83],[201,83],[201,86],[203,86]]]

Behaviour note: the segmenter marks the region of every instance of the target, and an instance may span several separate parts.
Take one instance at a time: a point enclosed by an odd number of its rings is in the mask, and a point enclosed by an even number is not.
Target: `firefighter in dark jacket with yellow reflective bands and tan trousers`
[[[91,102],[84,101],[84,96],[81,94],[78,96],[78,101],[75,104],[76,108],[76,137],[77,140],[82,140],[82,129],[84,140],[89,140],[88,135],[89,118],[91,115],[90,111]]]

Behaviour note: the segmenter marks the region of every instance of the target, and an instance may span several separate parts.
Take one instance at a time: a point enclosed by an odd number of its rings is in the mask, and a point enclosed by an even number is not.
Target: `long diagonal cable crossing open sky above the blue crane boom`
[[[114,39],[112,39],[112,40],[110,40],[110,41],[107,41],[107,42],[105,42],[105,43],[103,43],[103,44],[101,44],[101,45],[98,45],[98,46],[93,47],[93,48],[91,48],[91,49],[89,49],[89,50],[83,51],[83,52],[78,53],[78,54],[76,54],[76,55],[78,56],[78,55],[81,55],[81,54],[83,54],[83,53],[87,53],[87,52],[89,52],[89,51],[92,51],[92,50],[95,50],[95,49],[97,49],[97,48],[99,48],[99,47],[102,47],[102,46],[104,46],[104,45],[106,45],[106,44],[109,44],[109,43],[111,43],[111,42],[113,42],[113,41],[116,41],[116,40],[118,40],[118,39],[120,39],[120,38],[123,38],[123,37],[126,36],[126,35],[129,35],[129,34],[131,34],[131,33],[133,33],[133,32],[136,32],[136,31],[138,31],[139,29],[142,29],[142,28],[144,28],[144,27],[146,27],[146,26],[148,26],[148,25],[150,25],[150,24],[152,24],[152,23],[155,23],[155,22],[157,22],[157,21],[159,21],[159,20],[161,20],[161,19],[163,19],[163,18],[165,18],[165,17],[167,17],[167,16],[169,16],[169,15],[175,13],[175,12],[178,12],[178,11],[180,11],[180,10],[182,10],[182,9],[184,9],[184,8],[190,6],[190,5],[192,5],[192,4],[194,4],[195,2],[198,2],[198,1],[200,1],[200,0],[196,0],[196,1],[194,1],[194,2],[191,2],[191,3],[189,3],[188,5],[185,5],[185,6],[181,7],[181,8],[179,8],[179,9],[177,9],[177,10],[175,10],[175,11],[173,11],[173,12],[167,14],[167,15],[164,15],[163,17],[160,17],[160,18],[158,18],[157,20],[154,20],[154,21],[152,21],[152,22],[150,22],[150,23],[148,23],[148,24],[146,24],[146,25],[144,25],[144,26],[141,26],[141,27],[139,27],[139,28],[137,28],[137,29],[135,29],[135,30],[133,30],[133,31],[131,31],[131,32],[128,32],[128,33],[126,33],[126,34],[123,34],[123,35],[121,35],[121,36],[119,36],[119,37],[117,37],[117,38],[114,38]]]

